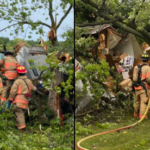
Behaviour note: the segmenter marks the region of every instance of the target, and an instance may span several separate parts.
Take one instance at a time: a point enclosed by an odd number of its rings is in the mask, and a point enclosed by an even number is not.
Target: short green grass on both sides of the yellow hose
[[[88,129],[91,129],[92,134],[95,134],[131,125],[136,121],[138,119],[133,118],[130,114],[120,117],[118,123],[112,123],[113,120],[111,120],[110,126],[106,126],[107,129],[98,126],[97,123],[93,123]],[[76,134],[76,143],[86,136]],[[81,146],[89,150],[150,150],[150,119],[144,120],[138,126],[128,130],[93,137],[81,143]]]

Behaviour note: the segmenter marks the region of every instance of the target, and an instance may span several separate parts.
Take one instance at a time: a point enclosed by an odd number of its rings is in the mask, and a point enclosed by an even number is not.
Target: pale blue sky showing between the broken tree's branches
[[[59,0],[55,0],[54,1],[54,8],[56,5],[58,5],[59,3]],[[50,24],[51,25],[51,22],[50,22],[50,19],[48,20],[45,20],[46,18],[46,15],[43,17],[43,13],[45,14],[48,14],[48,10],[44,10],[44,9],[40,9],[38,10],[37,12],[33,12],[33,15],[32,15],[32,20],[36,21],[36,20],[41,20],[47,24]],[[58,15],[57,15],[57,23],[59,22],[60,18],[63,16],[63,12],[61,9],[58,9],[57,12]],[[54,16],[55,16],[55,13],[53,13]],[[47,16],[49,18],[49,16]],[[11,23],[13,24],[13,23]],[[1,20],[1,23],[0,23],[0,30],[4,29],[5,27],[11,25],[9,24],[8,21],[4,21],[4,20]],[[28,28],[28,25],[24,25],[24,29],[26,31],[26,29]],[[74,28],[74,10],[72,9],[70,11],[70,13],[68,14],[68,16],[64,19],[64,21],[62,22],[62,24],[60,25],[59,29],[57,30],[57,38],[58,38],[58,41],[63,41],[64,39],[61,38],[61,35],[66,32],[69,28]],[[13,27],[11,29],[6,29],[2,32],[0,32],[0,37],[8,37],[9,39],[13,40],[15,38],[22,38],[24,40],[34,40],[36,41],[37,39],[39,39],[40,37],[42,37],[45,40],[47,40],[47,33],[49,32],[49,28],[47,27],[44,27],[43,26],[43,30],[45,31],[45,34],[44,36],[41,36],[41,35],[37,35],[35,34],[35,32],[33,31],[32,33],[32,38],[28,38],[28,35],[29,35],[29,32],[31,31],[30,29],[27,30],[26,34],[25,33],[19,33],[18,35],[13,35],[13,36],[10,36],[10,33],[11,33],[11,30],[13,29]]]

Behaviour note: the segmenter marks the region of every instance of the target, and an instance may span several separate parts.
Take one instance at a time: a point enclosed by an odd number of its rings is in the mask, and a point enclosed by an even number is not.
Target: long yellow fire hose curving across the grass
[[[135,122],[134,124],[131,124],[131,125],[129,125],[129,126],[125,126],[125,127],[122,127],[122,128],[118,128],[118,129],[114,129],[114,130],[109,130],[109,131],[106,131],[106,132],[101,132],[101,133],[97,133],[97,134],[93,134],[93,135],[87,136],[87,137],[81,139],[80,141],[78,141],[77,144],[76,144],[76,147],[77,147],[79,150],[89,150],[89,149],[87,149],[87,148],[82,147],[80,144],[81,144],[83,141],[86,141],[87,139],[93,138],[93,137],[95,137],[95,136],[99,136],[99,135],[102,135],[102,134],[108,134],[108,133],[112,133],[112,132],[117,132],[117,131],[119,132],[119,131],[121,131],[121,130],[130,129],[130,128],[132,128],[132,127],[135,127],[136,125],[138,125],[140,122],[143,121],[143,119],[145,118],[146,114],[148,113],[149,107],[150,107],[150,98],[149,98],[149,102],[148,102],[147,109],[146,109],[146,111],[145,111],[143,117],[142,117],[139,121],[137,121],[137,122]]]

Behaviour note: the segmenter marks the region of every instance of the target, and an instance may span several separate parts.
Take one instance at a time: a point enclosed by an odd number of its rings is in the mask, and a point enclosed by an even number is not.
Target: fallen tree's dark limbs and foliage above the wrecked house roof
[[[132,33],[150,44],[149,8],[150,4],[146,0],[77,1],[75,6],[76,25],[85,27],[112,24],[124,33]]]

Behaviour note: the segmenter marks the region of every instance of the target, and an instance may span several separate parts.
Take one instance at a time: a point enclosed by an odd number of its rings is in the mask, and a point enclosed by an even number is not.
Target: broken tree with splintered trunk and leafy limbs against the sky
[[[55,6],[54,8],[54,4]],[[27,29],[36,30],[36,34],[43,35],[43,27],[49,28],[48,38],[51,40],[52,44],[55,44],[57,40],[57,30],[62,24],[63,20],[67,17],[71,9],[73,8],[73,0],[5,0],[1,1],[0,4],[0,18],[9,21],[10,25],[1,29],[1,31],[8,28],[13,28],[11,35],[14,33],[17,35],[19,32],[25,32]],[[56,16],[58,15],[58,9],[62,9],[63,16],[56,22]],[[37,13],[41,10],[47,10],[43,13],[43,18],[45,17],[45,22],[39,20],[33,21],[33,13]],[[55,19],[54,14],[55,13]],[[38,16],[38,14],[37,14]],[[46,20],[50,20],[46,23]],[[27,24],[28,27],[25,31],[24,25]],[[14,31],[14,32],[13,32]],[[29,32],[32,34],[32,32]],[[31,38],[31,35],[28,36]]]

